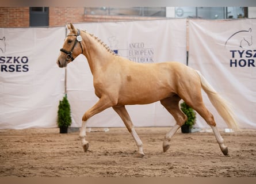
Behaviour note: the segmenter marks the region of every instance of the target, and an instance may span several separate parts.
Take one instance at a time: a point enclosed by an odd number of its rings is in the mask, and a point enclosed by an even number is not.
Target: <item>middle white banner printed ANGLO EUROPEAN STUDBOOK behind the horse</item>
[[[134,62],[178,61],[186,63],[186,20],[154,20],[75,24],[99,37],[110,49]],[[143,52],[142,52],[143,50]],[[67,93],[71,104],[72,127],[81,127],[83,114],[98,98],[85,56],[78,56],[67,67]],[[136,127],[174,125],[173,117],[159,102],[127,106]],[[112,108],[91,117],[88,127],[123,127]]]

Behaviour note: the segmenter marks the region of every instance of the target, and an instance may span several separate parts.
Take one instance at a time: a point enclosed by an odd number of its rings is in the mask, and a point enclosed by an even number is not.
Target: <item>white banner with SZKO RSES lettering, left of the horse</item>
[[[0,129],[56,127],[65,28],[0,28]]]

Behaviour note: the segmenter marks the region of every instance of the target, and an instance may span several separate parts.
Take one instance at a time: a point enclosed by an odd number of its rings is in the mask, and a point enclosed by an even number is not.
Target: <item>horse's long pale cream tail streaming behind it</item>
[[[197,71],[197,70],[196,70]],[[220,95],[213,89],[213,87],[207,82],[207,80],[202,76],[202,74],[197,71],[197,74],[201,78],[201,86],[202,89],[207,93],[208,98],[212,102],[212,105],[215,107],[217,112],[226,122],[229,128],[232,128],[234,131],[238,131],[239,127],[236,123],[236,118],[234,113],[232,112],[228,102],[220,97]]]

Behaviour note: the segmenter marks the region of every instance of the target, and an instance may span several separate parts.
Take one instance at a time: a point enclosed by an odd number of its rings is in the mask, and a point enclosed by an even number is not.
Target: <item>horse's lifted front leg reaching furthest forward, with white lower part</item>
[[[113,102],[109,101],[108,97],[101,97],[99,99],[99,101],[92,108],[90,108],[89,110],[87,110],[85,112],[85,114],[83,114],[82,127],[80,129],[79,137],[81,137],[83,150],[85,152],[89,148],[89,142],[85,139],[86,138],[86,123],[87,123],[87,120],[90,117],[94,116],[95,114],[98,114],[98,113],[102,112],[103,110],[113,106],[112,103]]]

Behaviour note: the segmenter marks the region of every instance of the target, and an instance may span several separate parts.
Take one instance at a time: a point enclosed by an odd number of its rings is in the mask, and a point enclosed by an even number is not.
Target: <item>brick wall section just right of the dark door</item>
[[[84,21],[83,7],[49,7],[49,26],[64,26],[68,22]]]

